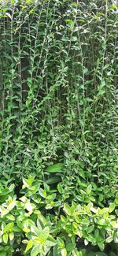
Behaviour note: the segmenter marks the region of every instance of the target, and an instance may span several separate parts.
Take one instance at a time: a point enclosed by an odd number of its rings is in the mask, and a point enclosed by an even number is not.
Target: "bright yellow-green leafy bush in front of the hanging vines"
[[[84,255],[84,250],[79,251],[83,242],[85,246],[88,243],[98,246],[101,251],[107,243],[117,243],[116,201],[103,209],[95,208],[92,202],[87,205],[72,202],[72,206],[65,202],[59,212],[60,204],[53,202],[53,191],[46,195],[37,182],[32,185],[33,181],[34,176],[24,179],[21,190],[21,193],[25,190],[24,195],[18,200],[16,195],[9,195],[0,206],[0,251],[3,255],[20,252],[31,256],[78,256]],[[55,207],[57,214],[50,213]],[[93,255],[97,255],[95,251]]]

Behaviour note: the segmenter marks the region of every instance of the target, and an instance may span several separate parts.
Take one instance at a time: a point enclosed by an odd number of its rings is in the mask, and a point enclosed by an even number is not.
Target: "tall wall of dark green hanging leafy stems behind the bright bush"
[[[17,195],[32,175],[62,207],[114,202],[117,14],[113,0],[0,2],[0,176]]]

